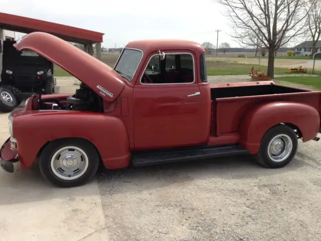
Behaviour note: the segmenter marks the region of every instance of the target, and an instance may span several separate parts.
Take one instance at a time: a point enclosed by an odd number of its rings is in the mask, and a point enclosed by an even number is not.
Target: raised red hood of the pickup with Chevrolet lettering
[[[107,101],[117,98],[124,88],[122,77],[113,68],[51,34],[34,32],[14,46],[19,51],[33,50],[59,65]]]

